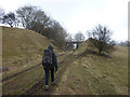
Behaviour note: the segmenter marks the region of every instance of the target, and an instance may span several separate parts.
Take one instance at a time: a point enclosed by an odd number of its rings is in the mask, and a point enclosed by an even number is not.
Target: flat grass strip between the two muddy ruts
[[[61,54],[63,55],[57,57],[58,63],[63,61],[64,58],[68,55],[68,53],[66,52]],[[3,82],[3,85],[2,85],[3,95],[21,95],[27,89],[29,89],[35,83],[40,81],[43,77],[44,77],[43,67],[40,65],[34,69],[30,69],[14,78],[11,78],[8,81]],[[41,89],[38,91],[39,94]],[[43,91],[41,93],[43,93]]]

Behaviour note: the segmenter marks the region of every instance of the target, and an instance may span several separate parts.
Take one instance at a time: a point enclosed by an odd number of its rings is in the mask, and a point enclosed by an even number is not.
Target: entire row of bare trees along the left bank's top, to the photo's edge
[[[3,10],[1,11],[4,12]],[[38,6],[25,5],[18,8],[16,12],[10,12],[8,14],[1,13],[0,15],[0,22],[2,24],[34,30],[52,39],[57,47],[64,48],[66,30],[57,20],[48,16],[46,12]]]

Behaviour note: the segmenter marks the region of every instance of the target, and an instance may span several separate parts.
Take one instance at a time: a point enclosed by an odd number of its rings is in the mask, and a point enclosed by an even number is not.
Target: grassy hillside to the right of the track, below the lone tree
[[[74,61],[53,94],[128,95],[128,47],[116,46],[110,57],[104,57],[88,53],[89,42],[80,44],[74,53]]]

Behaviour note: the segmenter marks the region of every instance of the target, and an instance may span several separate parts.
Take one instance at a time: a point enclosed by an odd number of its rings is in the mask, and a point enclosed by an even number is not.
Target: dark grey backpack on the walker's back
[[[44,68],[50,69],[52,67],[52,55],[53,52],[51,50],[44,50],[43,52],[43,58],[42,58],[42,65]]]

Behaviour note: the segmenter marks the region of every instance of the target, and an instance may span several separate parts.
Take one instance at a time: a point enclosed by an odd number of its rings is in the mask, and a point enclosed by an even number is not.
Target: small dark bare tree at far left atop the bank
[[[3,16],[2,24],[8,24],[13,27],[15,25],[15,14],[10,12],[9,14]]]

